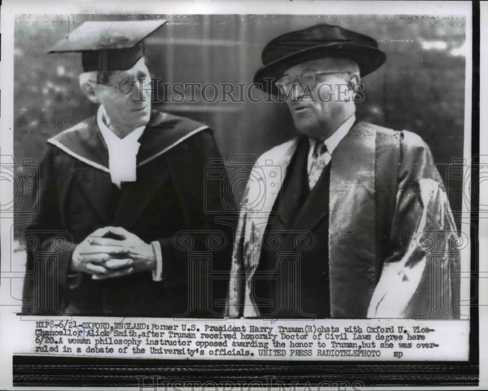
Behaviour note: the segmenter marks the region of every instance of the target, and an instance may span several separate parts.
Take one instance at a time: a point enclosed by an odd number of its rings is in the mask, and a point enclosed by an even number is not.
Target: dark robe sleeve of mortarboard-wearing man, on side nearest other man
[[[177,236],[163,237],[158,241],[162,252],[162,281],[164,284],[179,292],[181,296],[189,295],[188,290],[210,284],[210,291],[204,294],[210,297],[195,297],[188,300],[209,301],[210,308],[189,310],[185,316],[215,317],[222,316],[230,268],[230,255],[234,238],[235,216],[224,209],[223,198],[231,196],[223,194],[225,179],[221,181],[208,180],[205,167],[214,159],[220,159],[221,154],[210,129],[199,132],[188,138],[177,148],[170,151],[169,168],[174,185],[177,189],[179,202],[185,218],[185,230],[188,239],[193,243],[192,248],[182,249],[177,246]],[[223,173],[225,175],[225,171]],[[209,235],[215,234],[222,246],[218,249],[209,247]],[[186,239],[185,239],[186,240]],[[211,243],[210,243],[211,244]],[[216,274],[223,274],[222,278],[207,279],[206,275],[193,275],[189,270],[190,252],[211,253],[211,270]],[[202,293],[203,294],[203,293]],[[208,300],[207,300],[208,299]],[[190,305],[189,307],[192,307]]]

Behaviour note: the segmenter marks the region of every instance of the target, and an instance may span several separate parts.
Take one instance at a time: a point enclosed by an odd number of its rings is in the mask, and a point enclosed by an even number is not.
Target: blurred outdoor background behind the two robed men
[[[38,164],[45,141],[97,107],[81,94],[79,54],[47,54],[87,20],[168,19],[147,40],[146,58],[162,82],[251,83],[267,41],[317,23],[339,24],[378,40],[386,63],[364,79],[358,117],[424,138],[439,171],[463,157],[465,42],[463,18],[290,15],[23,15],[15,26],[14,152]],[[257,90],[253,96],[258,97]],[[160,109],[210,125],[222,154],[259,155],[295,134],[285,103],[157,103]],[[448,183],[461,209],[461,182]],[[28,203],[28,197],[26,203]]]

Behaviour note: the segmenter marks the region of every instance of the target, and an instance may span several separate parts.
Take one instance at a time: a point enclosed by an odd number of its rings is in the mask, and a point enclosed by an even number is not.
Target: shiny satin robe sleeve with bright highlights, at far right
[[[390,248],[367,317],[457,318],[453,274],[459,235],[442,179],[423,140],[402,132]],[[457,280],[459,281],[459,280]]]

